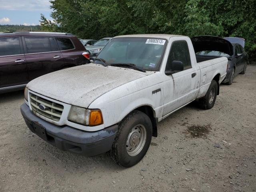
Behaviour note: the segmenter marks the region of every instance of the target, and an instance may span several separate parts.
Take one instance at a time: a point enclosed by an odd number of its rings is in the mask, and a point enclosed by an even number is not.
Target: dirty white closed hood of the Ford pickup
[[[54,100],[88,108],[102,94],[152,73],[86,64],[38,77],[29,82],[27,87]]]

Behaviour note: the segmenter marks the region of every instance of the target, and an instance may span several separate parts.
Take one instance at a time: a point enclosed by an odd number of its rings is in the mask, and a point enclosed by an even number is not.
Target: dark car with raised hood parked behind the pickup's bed
[[[196,36],[191,40],[195,47],[196,58],[198,62],[207,60],[207,58],[228,58],[227,75],[223,80],[223,83],[231,85],[236,75],[244,74],[246,72],[248,54],[244,51],[243,48],[244,39],[220,38],[215,36]],[[237,42],[239,42],[239,44]]]

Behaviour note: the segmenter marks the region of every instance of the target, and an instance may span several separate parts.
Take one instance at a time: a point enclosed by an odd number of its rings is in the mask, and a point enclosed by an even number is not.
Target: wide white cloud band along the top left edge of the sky
[[[49,0],[0,0],[0,9],[50,11]]]

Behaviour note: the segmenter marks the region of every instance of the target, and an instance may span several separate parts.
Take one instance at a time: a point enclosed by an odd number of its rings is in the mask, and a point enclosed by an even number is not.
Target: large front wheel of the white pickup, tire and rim
[[[134,166],[145,156],[151,138],[150,118],[145,113],[134,110],[118,125],[110,156],[120,166]]]

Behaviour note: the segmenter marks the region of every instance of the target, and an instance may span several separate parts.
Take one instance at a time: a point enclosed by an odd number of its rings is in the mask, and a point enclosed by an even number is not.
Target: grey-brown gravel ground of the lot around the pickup
[[[256,190],[256,65],[221,85],[214,108],[194,102],[160,122],[132,168],[54,148],[27,128],[22,103],[22,91],[0,95],[0,192]]]

